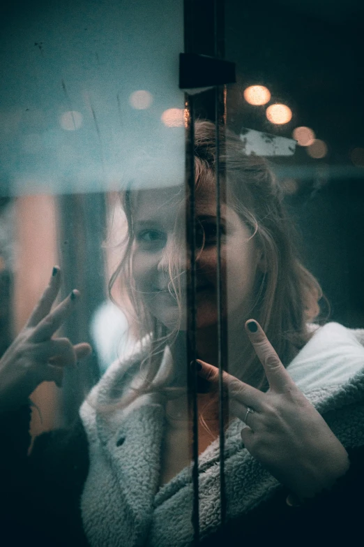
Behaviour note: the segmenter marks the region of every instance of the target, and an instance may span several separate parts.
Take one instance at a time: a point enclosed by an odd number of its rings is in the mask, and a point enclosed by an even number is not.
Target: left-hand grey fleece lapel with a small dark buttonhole
[[[145,544],[160,480],[164,409],[144,395],[127,409],[99,411],[84,403],[89,475],[82,520],[91,547]]]

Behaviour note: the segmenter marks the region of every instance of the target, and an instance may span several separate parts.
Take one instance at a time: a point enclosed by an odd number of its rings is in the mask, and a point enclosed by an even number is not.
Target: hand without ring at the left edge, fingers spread
[[[79,297],[74,290],[51,311],[60,285],[60,270],[55,267],[29,321],[0,360],[0,410],[16,409],[26,403],[43,381],[61,386],[63,367],[75,366],[77,360],[91,353],[89,344],[74,346],[68,338],[53,337]]]

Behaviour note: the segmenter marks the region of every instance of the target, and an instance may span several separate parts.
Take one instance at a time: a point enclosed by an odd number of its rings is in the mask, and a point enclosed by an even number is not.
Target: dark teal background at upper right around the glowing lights
[[[195,51],[214,54],[213,9],[195,2]],[[227,125],[292,137],[296,126],[314,129],[328,153],[311,158],[296,147],[274,159],[296,191],[286,201],[298,226],[305,265],[317,276],[331,305],[329,319],[364,325],[364,4],[359,1],[225,1],[225,59],[236,63],[236,84],[227,86]],[[220,21],[221,24],[221,21]],[[291,122],[273,125],[266,106],[249,105],[243,91],[264,85],[270,103],[291,108]],[[196,99],[197,116],[214,117],[213,92]],[[323,302],[323,311],[327,310]]]

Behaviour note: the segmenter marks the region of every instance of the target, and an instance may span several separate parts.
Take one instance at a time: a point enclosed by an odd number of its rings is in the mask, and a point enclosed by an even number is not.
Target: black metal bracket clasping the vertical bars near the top
[[[197,53],[179,54],[180,89],[196,89],[234,82],[235,63]]]

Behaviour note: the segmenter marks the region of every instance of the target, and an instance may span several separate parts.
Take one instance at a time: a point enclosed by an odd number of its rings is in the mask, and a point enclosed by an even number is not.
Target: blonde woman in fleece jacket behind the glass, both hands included
[[[222,541],[215,129],[198,122],[195,134],[191,221],[197,233],[200,531],[202,541],[211,545]],[[330,540],[334,536],[327,519],[344,517],[344,525],[335,530],[337,538],[338,532],[347,533],[349,518],[356,522],[353,483],[363,480],[357,461],[364,442],[363,334],[336,323],[308,324],[319,312],[319,286],[296,258],[278,184],[264,161],[243,156],[232,134],[222,138],[221,152],[227,191],[218,230],[227,286],[222,291],[222,323],[228,333],[222,339],[222,353],[229,365],[224,377],[229,413],[223,541],[268,541],[278,518],[285,519],[287,543],[298,527],[301,539],[307,532],[312,539],[308,522]],[[93,388],[81,409],[82,425],[70,433],[43,435],[31,458],[25,458],[24,441],[18,451],[6,452],[8,468],[15,469],[11,480],[17,469],[23,470],[15,481],[17,488],[24,490],[24,481],[36,476],[36,506],[37,511],[40,506],[47,511],[47,518],[42,518],[50,523],[47,534],[53,534],[61,513],[75,544],[192,542],[185,366],[190,263],[183,251],[183,198],[179,187],[126,192],[126,250],[112,282],[120,276],[128,291],[139,347],[109,367]],[[77,300],[73,291],[50,311],[59,277],[55,268],[28,326],[1,360],[8,435],[15,431],[9,414],[26,423],[26,398],[33,388],[44,379],[61,382],[62,366],[89,351],[87,344],[72,346],[68,340],[52,339]],[[343,494],[351,500],[343,503]],[[36,522],[33,514],[29,520]],[[267,525],[266,531],[261,523]],[[279,539],[285,542],[282,535]]]

